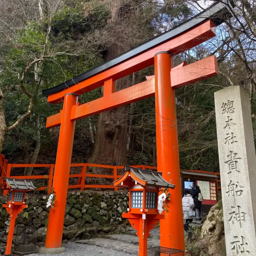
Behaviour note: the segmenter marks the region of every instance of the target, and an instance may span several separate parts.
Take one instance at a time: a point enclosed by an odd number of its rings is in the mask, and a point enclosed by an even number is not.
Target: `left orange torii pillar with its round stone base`
[[[70,114],[72,107],[77,103],[77,96],[71,93],[68,93],[64,96],[54,180],[52,185],[54,194],[56,195],[56,202],[54,203],[54,208],[52,208],[49,213],[45,241],[45,248],[57,248],[56,251],[51,250],[51,252],[55,253],[60,253],[65,250],[64,247],[61,248],[61,243],[76,124],[76,121],[70,120]],[[44,248],[41,248],[39,252],[39,254],[48,253],[49,250]]]

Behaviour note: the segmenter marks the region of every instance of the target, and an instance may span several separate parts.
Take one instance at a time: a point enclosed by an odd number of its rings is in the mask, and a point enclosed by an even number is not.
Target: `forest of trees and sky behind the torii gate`
[[[0,152],[14,163],[55,159],[59,128],[46,118],[50,88],[186,21],[214,1],[2,0],[0,3]],[[180,167],[218,171],[214,92],[242,86],[250,94],[256,133],[256,3],[234,2],[217,36],[183,54],[174,65],[212,54],[219,76],[176,90]],[[116,82],[116,91],[146,80],[154,67]],[[98,88],[79,96],[99,98]],[[154,97],[76,122],[72,162],[156,165]],[[171,166],[170,166],[171,168]],[[32,174],[26,168],[25,174]]]

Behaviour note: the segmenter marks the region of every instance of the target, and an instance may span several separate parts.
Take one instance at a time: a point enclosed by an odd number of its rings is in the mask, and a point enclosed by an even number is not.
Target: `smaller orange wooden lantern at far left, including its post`
[[[14,232],[16,217],[24,208],[26,191],[33,191],[36,187],[33,185],[34,180],[14,179],[3,177],[4,183],[0,189],[7,190],[7,202],[3,205],[10,215],[10,227],[8,232],[5,255],[11,254],[12,237]]]

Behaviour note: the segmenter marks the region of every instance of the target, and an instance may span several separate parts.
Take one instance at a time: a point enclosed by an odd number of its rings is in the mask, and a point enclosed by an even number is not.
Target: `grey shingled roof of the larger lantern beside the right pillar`
[[[160,188],[175,188],[174,184],[167,182],[162,177],[162,172],[155,172],[134,168],[131,166],[124,166],[126,171],[122,177],[114,181],[114,186],[131,186],[132,183],[137,182],[142,186],[154,186]]]

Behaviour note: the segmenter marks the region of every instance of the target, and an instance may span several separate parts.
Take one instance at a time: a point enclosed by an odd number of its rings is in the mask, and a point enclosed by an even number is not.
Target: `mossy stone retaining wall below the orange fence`
[[[122,219],[122,212],[129,208],[127,191],[77,191],[69,192],[67,197],[63,240],[88,239],[97,234],[124,233],[127,221]],[[49,208],[46,207],[48,196],[28,194],[24,209],[16,224],[38,227],[38,242],[44,245],[48,223]],[[6,202],[0,196],[0,204]],[[2,206],[2,205],[1,205]],[[4,250],[10,225],[9,214],[0,208],[0,253]],[[15,231],[14,231],[15,232]]]

